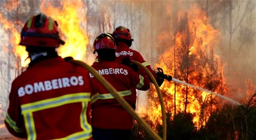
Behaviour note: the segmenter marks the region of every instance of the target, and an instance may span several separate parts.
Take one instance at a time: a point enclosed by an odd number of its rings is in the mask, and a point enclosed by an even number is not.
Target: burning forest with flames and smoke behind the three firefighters
[[[43,12],[58,21],[66,42],[58,48],[62,57],[92,64],[95,37],[127,26],[134,38],[132,49],[153,69],[162,68],[180,81],[242,104],[165,80],[160,89],[167,139],[256,138],[255,1],[6,0],[0,6],[1,117],[8,107],[12,80],[30,62],[26,48],[19,45],[21,28],[30,16]],[[138,92],[137,97],[137,113],[161,136],[156,88]],[[4,127],[2,118],[0,127]],[[152,138],[135,121],[131,139]]]

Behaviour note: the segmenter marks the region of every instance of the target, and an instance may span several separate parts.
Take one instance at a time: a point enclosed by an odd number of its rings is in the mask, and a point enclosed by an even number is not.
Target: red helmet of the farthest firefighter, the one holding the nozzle
[[[118,26],[116,30],[114,30],[113,36],[115,36],[116,39],[125,39],[133,41],[130,30],[128,28],[125,28],[124,26]]]

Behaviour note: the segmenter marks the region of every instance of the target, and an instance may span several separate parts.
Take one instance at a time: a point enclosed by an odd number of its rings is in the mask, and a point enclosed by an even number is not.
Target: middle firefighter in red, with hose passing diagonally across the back
[[[136,104],[136,94],[131,88],[148,90],[150,81],[138,75],[130,67],[118,64],[115,59],[116,44],[111,34],[101,34],[94,41],[94,53],[99,61],[94,67],[131,106]],[[133,125],[132,116],[116,99],[98,82],[92,74],[92,85],[95,90],[92,102],[92,134],[94,140],[129,140]]]

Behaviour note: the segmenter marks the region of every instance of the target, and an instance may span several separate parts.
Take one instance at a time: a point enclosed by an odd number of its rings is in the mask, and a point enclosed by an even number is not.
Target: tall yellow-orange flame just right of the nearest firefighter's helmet
[[[66,42],[59,48],[62,57],[72,56],[82,60],[89,44],[86,35],[86,8],[82,0],[63,0],[58,8],[43,1],[41,10],[58,22],[62,39]]]

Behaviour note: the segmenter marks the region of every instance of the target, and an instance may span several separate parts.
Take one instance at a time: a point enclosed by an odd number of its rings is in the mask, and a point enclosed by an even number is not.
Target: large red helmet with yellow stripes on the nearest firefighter
[[[60,44],[65,42],[60,39],[58,23],[42,13],[32,16],[22,28],[20,45],[58,47]]]

